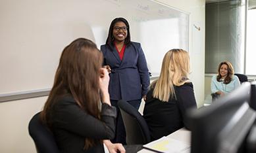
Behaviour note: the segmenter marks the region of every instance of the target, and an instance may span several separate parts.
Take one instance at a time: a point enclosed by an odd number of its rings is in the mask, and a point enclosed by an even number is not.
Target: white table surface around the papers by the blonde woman
[[[182,143],[190,144],[191,131],[189,131],[186,128],[182,128],[182,129],[175,131],[174,133],[171,133],[170,135],[168,135],[166,137],[168,137],[170,139],[174,139],[176,141],[181,141]],[[138,153],[149,153],[149,152],[154,152],[154,151],[151,151],[147,148],[143,148]],[[182,153],[189,153],[189,152],[190,152],[190,148],[182,151]]]

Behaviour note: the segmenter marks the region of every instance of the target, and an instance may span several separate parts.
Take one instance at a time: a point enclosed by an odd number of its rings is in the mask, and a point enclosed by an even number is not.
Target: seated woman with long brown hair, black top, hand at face
[[[61,54],[41,120],[61,152],[125,152],[115,137],[116,109],[109,99],[109,73],[94,42],[76,39]]]

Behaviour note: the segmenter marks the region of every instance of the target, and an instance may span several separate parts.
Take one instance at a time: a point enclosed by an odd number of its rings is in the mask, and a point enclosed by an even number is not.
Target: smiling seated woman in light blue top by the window
[[[220,96],[232,92],[240,86],[238,76],[234,75],[234,68],[228,61],[222,61],[218,65],[218,75],[211,79],[211,93]]]

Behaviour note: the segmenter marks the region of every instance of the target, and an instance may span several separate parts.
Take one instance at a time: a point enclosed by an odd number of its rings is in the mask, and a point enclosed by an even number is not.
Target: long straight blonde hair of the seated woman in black
[[[155,80],[153,97],[167,102],[169,98],[176,97],[174,86],[182,86],[190,82],[188,74],[190,71],[190,57],[188,52],[182,49],[169,50],[163,59],[159,79]]]

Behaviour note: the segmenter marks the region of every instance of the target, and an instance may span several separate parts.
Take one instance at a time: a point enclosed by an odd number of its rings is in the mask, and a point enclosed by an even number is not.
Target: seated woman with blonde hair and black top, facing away
[[[172,49],[165,54],[160,76],[150,85],[143,110],[151,141],[188,127],[186,110],[197,107],[189,72],[188,52]]]

